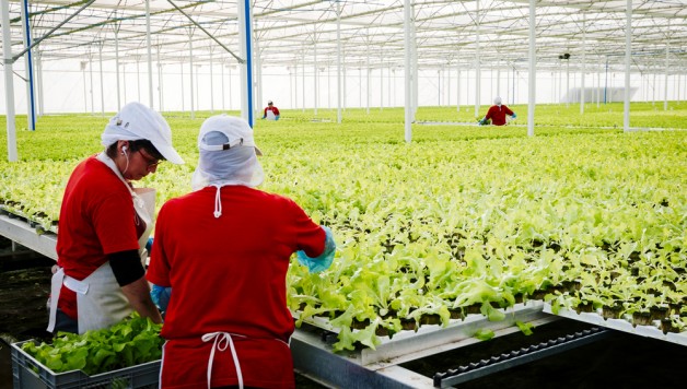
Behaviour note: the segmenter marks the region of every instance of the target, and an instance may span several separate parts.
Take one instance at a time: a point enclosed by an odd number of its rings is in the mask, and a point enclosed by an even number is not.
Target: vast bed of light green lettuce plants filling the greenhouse
[[[258,122],[261,188],[293,198],[339,247],[323,274],[290,268],[298,322],[336,329],[334,351],[375,349],[384,337],[474,314],[499,321],[509,307],[540,300],[555,313],[619,308],[630,326],[636,313],[660,308],[669,322],[650,325],[684,332],[687,131],[674,128],[687,128],[687,109],[633,105],[640,126],[663,117],[672,129],[622,133],[614,129],[620,107],[590,108],[583,119],[543,107],[534,138],[515,126],[415,127],[411,144],[398,109],[351,110],[340,126],[295,111]],[[560,126],[567,115],[573,127]],[[201,119],[168,119],[187,164],[141,182],[158,189],[158,207],[190,190],[197,161]],[[100,151],[105,122],[45,117],[36,132],[20,132],[22,161],[0,163],[3,210],[57,232],[65,181]]]

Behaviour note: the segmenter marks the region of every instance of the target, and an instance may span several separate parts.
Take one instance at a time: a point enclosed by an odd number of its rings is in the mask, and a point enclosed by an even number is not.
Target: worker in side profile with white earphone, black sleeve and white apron
[[[107,328],[135,310],[162,322],[142,263],[155,192],[131,181],[155,173],[163,160],[184,160],[164,118],[140,103],[125,105],[109,120],[102,144],[105,151],[74,168],[62,197],[50,332]]]

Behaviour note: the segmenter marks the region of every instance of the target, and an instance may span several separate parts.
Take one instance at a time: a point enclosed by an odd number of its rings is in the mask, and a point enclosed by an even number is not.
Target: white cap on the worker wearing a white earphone
[[[162,115],[141,103],[129,103],[115,115],[101,137],[105,148],[117,141],[149,140],[165,160],[181,165],[184,160],[172,146],[172,129]]]

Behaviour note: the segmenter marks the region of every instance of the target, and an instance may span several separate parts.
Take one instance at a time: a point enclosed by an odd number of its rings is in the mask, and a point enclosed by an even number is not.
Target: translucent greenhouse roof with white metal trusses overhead
[[[145,61],[145,1],[95,0],[79,12],[88,3],[30,2],[33,38],[46,36],[38,46],[40,58],[86,60],[102,50],[104,59],[112,59],[118,50],[120,62]],[[632,3],[632,70],[663,72],[666,55],[672,71],[684,69],[687,1]],[[254,0],[253,4],[255,49],[264,67],[336,66],[339,40],[347,68],[404,64],[404,0]],[[416,0],[411,4],[420,68],[471,68],[477,54],[482,67],[527,67],[528,0]],[[14,54],[23,49],[21,5],[10,2]],[[584,56],[587,67],[608,62],[622,69],[626,5],[625,0],[537,1],[538,69],[559,67],[566,54],[571,67],[581,66]],[[151,0],[150,13],[153,61],[187,61],[193,46],[194,61],[237,63],[236,1]]]

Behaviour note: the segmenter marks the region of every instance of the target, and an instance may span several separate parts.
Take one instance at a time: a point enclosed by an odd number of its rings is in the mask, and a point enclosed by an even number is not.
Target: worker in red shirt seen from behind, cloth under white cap
[[[168,294],[161,388],[293,388],[287,271],[296,252],[327,269],[336,244],[294,201],[256,189],[264,172],[253,129],[208,118],[195,191],[160,210],[147,278]]]

